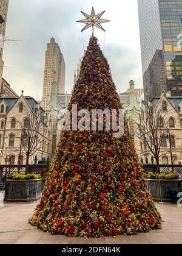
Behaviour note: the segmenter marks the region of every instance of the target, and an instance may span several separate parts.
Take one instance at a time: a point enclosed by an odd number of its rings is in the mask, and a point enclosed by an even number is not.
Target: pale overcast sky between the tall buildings
[[[95,7],[96,14],[106,10],[104,32],[95,29],[101,49],[109,60],[118,91],[135,80],[143,87],[137,0],[10,0],[6,37],[19,40],[5,44],[4,78],[16,93],[42,97],[44,57],[47,43],[54,37],[66,62],[66,90],[73,88],[74,69],[89,43],[92,28],[81,34],[84,24],[76,23]]]

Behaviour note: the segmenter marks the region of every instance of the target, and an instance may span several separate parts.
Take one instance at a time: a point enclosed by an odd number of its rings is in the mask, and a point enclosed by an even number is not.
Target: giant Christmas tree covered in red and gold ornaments
[[[109,64],[95,37],[81,65],[69,110],[121,108]],[[129,129],[64,131],[47,175],[41,202],[30,220],[53,234],[115,236],[160,227]]]

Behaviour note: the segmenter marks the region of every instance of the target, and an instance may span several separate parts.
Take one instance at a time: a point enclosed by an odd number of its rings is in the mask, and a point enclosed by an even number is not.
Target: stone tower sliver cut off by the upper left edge
[[[5,25],[7,20],[8,0],[0,0],[0,93],[2,84],[2,72],[4,62],[2,60],[3,42],[5,37]]]

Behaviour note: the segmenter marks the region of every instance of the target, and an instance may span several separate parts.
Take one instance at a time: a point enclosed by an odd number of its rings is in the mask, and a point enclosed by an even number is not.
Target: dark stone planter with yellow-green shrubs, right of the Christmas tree
[[[149,172],[146,174],[147,188],[154,201],[170,202],[171,191],[174,191],[174,189],[180,191],[181,182],[182,180],[178,179],[178,174],[175,173],[155,174]]]

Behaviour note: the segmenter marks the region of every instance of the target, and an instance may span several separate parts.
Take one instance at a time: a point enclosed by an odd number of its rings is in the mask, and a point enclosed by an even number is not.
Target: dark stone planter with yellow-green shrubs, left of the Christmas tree
[[[40,174],[13,174],[5,180],[4,201],[30,202],[41,198],[42,179]]]

